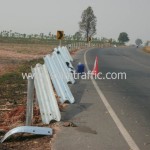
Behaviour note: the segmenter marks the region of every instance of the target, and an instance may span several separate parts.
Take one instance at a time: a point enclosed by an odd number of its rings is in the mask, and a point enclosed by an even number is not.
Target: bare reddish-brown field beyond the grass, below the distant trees
[[[0,43],[0,75],[16,70],[25,61],[42,58],[53,48],[50,45]]]

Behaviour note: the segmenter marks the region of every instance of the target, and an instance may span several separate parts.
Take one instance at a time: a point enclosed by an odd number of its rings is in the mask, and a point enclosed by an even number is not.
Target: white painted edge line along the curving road
[[[84,53],[84,62],[85,62],[87,70],[89,70],[89,67],[88,67],[88,64],[87,64],[87,60],[86,60],[86,54],[87,54],[88,51],[86,51]],[[118,118],[117,114],[115,113],[115,111],[113,110],[111,105],[109,104],[109,102],[106,99],[105,95],[103,94],[101,89],[98,87],[96,81],[94,79],[91,79],[91,80],[92,80],[92,83],[93,83],[93,85],[94,85],[94,87],[95,87],[99,97],[101,98],[102,102],[104,103],[107,111],[109,112],[111,118],[115,122],[115,124],[116,124],[117,128],[119,129],[120,133],[122,134],[123,138],[125,139],[125,141],[129,145],[130,149],[131,150],[140,150],[139,147],[137,146],[137,144],[135,143],[135,141],[133,140],[133,138],[131,137],[131,135],[129,134],[129,132],[124,127],[123,123]]]

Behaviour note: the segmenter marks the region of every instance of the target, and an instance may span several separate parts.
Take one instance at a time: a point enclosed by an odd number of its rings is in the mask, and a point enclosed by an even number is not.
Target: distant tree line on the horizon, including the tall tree
[[[105,37],[96,37],[97,18],[91,6],[85,9],[81,14],[79,22],[79,31],[74,35],[64,35],[64,43],[71,42],[93,42],[93,43],[109,43],[114,45],[125,45],[128,42],[129,36],[126,32],[121,32],[117,40]],[[57,36],[49,32],[48,34],[25,34],[10,31],[0,32],[0,42],[19,42],[19,43],[49,43],[58,42]],[[141,39],[135,41],[137,45],[142,44]]]

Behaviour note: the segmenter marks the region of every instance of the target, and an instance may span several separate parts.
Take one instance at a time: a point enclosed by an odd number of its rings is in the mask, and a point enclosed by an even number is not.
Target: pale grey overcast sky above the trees
[[[117,39],[124,31],[130,43],[150,40],[150,0],[0,0],[0,31],[74,34],[88,6],[97,17],[97,37]]]

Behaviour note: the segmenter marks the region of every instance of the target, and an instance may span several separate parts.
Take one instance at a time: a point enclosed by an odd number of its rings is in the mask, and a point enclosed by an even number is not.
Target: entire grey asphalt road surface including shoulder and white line
[[[126,72],[126,80],[77,80],[71,87],[76,103],[62,112],[62,121],[78,127],[57,134],[56,150],[150,150],[150,55],[136,48],[82,50],[74,65],[92,70]],[[94,83],[94,84],[93,84]]]

